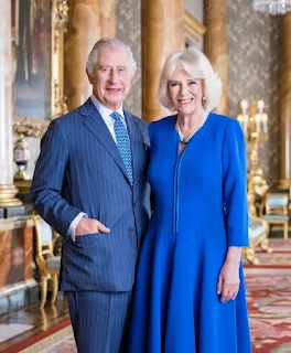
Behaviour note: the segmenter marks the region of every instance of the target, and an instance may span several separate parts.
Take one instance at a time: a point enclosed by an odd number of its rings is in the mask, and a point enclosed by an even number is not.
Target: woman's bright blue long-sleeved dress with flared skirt
[[[150,125],[154,210],[141,248],[130,353],[251,352],[240,265],[222,303],[227,247],[248,246],[246,160],[238,121],[211,114],[179,156],[175,116]]]

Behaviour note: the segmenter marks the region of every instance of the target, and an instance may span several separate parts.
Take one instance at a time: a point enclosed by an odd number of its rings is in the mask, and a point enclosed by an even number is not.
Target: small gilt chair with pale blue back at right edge
[[[262,218],[269,226],[281,225],[283,227],[283,237],[288,239],[288,204],[289,197],[287,194],[270,193],[266,199],[266,214]]]

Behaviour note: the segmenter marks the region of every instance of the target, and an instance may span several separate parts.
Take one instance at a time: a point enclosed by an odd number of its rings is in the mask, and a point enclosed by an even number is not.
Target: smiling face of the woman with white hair
[[[203,109],[202,79],[190,76],[184,68],[177,67],[168,82],[170,99],[179,114],[193,115]]]

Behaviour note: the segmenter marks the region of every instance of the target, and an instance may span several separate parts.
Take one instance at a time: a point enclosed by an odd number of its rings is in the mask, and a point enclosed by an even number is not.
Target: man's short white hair
[[[88,73],[88,75],[90,77],[94,76],[94,71],[96,67],[96,64],[98,62],[98,52],[103,49],[103,47],[110,47],[110,49],[117,49],[117,47],[123,47],[127,50],[128,52],[128,57],[129,57],[129,69],[130,69],[130,74],[131,77],[134,76],[134,73],[137,71],[137,63],[136,60],[133,57],[132,51],[131,49],[123,43],[122,41],[118,40],[118,39],[111,39],[111,38],[103,38],[101,40],[99,40],[93,47],[93,50],[89,53],[88,60],[87,60],[87,64],[86,64],[86,71]]]

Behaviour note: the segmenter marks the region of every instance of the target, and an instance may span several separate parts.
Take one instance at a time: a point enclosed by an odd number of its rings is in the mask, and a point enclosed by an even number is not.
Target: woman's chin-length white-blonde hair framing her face
[[[162,106],[174,110],[169,97],[168,83],[177,67],[194,77],[203,81],[203,108],[211,111],[217,107],[222,97],[222,81],[214,72],[208,58],[197,49],[190,46],[185,51],[173,52],[164,63],[158,88],[158,99]]]

